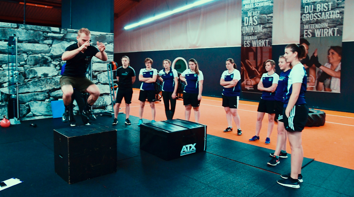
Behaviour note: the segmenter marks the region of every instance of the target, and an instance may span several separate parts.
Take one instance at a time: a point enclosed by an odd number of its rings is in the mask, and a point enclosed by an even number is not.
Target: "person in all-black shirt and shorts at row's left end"
[[[129,112],[132,103],[133,83],[135,82],[135,70],[129,65],[128,56],[122,57],[122,66],[117,68],[116,77],[118,81],[117,96],[114,105],[113,125],[118,123],[119,107],[124,97],[125,101],[125,124],[130,125]]]

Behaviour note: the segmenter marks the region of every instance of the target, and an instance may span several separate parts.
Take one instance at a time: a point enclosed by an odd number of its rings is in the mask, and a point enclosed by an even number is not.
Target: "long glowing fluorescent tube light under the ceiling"
[[[143,25],[143,24],[152,22],[154,20],[161,19],[161,18],[170,16],[170,15],[172,15],[174,13],[181,12],[181,11],[184,11],[184,10],[187,10],[189,8],[196,7],[196,6],[199,6],[199,5],[202,5],[202,4],[206,4],[206,3],[209,3],[211,1],[215,1],[215,0],[199,0],[199,1],[194,2],[193,4],[189,4],[189,5],[177,8],[175,10],[159,14],[159,15],[156,15],[156,16],[151,17],[151,18],[147,18],[147,19],[142,20],[142,21],[140,21],[138,23],[133,23],[133,24],[127,25],[127,26],[124,27],[124,29],[132,29],[132,28],[135,28],[136,26]]]

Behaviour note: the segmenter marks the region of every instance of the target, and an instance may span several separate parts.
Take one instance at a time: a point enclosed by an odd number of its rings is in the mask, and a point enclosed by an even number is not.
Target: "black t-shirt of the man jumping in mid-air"
[[[78,43],[68,46],[65,51],[78,49]],[[91,59],[99,50],[94,46],[88,46],[84,53],[79,52],[72,59],[67,60],[63,76],[69,77],[85,77],[86,70],[89,66]]]

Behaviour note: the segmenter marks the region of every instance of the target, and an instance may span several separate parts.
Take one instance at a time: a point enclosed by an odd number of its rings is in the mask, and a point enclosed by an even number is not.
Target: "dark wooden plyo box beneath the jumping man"
[[[54,130],[55,172],[67,183],[117,171],[117,130],[95,124]]]

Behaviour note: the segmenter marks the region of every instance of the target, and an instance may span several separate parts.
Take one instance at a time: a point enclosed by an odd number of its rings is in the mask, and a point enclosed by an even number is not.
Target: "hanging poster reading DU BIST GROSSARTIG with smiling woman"
[[[307,90],[341,90],[344,0],[301,0],[300,44],[307,49],[302,64]]]

